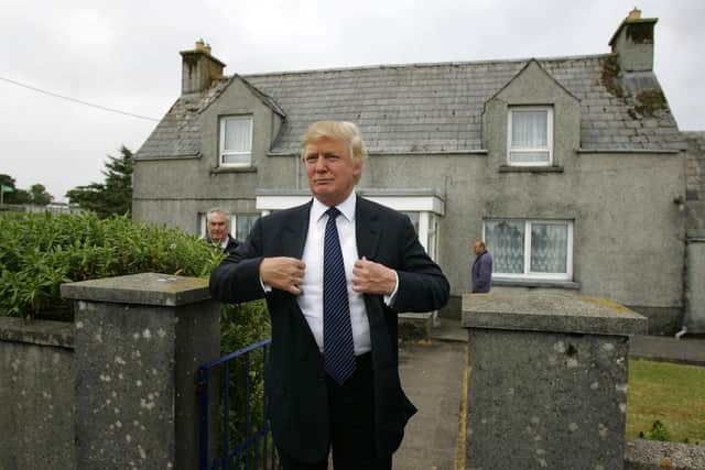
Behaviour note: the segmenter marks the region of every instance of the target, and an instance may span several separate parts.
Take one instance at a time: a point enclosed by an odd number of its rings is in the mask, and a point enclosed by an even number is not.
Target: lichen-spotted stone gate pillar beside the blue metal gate
[[[77,300],[77,468],[197,468],[196,371],[220,348],[208,281],[134,274],[62,296]]]

